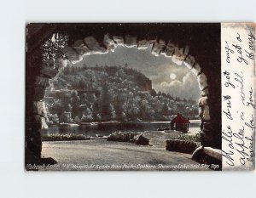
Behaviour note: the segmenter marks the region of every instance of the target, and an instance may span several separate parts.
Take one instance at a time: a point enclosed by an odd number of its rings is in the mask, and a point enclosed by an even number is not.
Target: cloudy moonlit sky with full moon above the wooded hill
[[[186,99],[199,99],[200,90],[195,75],[184,65],[176,65],[172,59],[164,55],[158,57],[151,54],[151,48],[117,47],[108,54],[90,54],[76,65],[121,65],[141,71],[152,80],[153,88],[158,92],[170,93]]]

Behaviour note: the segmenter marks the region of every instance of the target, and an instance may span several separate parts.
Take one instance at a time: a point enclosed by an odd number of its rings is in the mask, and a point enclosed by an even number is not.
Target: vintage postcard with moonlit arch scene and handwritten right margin
[[[255,28],[27,24],[26,170],[254,170]]]

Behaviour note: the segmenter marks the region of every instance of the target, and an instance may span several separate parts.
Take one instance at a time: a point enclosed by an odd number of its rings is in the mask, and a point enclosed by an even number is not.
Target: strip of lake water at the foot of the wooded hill
[[[156,131],[158,128],[170,128],[170,122],[136,122],[136,123],[99,123],[99,124],[87,124],[79,125],[75,127],[71,126],[51,126],[48,129],[42,130],[42,135],[50,134],[67,134],[76,133],[83,134],[86,137],[96,137],[96,135],[104,136],[113,132],[146,132]],[[200,132],[200,121],[190,121],[189,133]]]

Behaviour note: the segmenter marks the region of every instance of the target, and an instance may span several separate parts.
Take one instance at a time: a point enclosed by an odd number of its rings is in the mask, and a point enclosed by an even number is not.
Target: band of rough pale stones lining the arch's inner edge
[[[55,34],[49,34],[45,37],[47,39],[54,40]],[[41,42],[42,43],[42,42]],[[137,47],[139,50],[152,48],[152,54],[158,56],[164,54],[166,57],[172,59],[177,65],[184,65],[197,77],[199,88],[201,90],[201,99],[199,100],[199,106],[201,109],[201,144],[206,146],[212,146],[219,148],[221,142],[216,141],[218,134],[214,133],[214,130],[219,129],[219,126],[214,127],[212,124],[211,110],[214,108],[211,99],[214,93],[211,93],[211,85],[207,82],[206,70],[197,61],[196,57],[189,53],[189,45],[180,47],[176,42],[172,42],[172,39],[166,37],[154,36],[139,37],[137,34],[111,34],[105,33],[102,38],[91,36],[82,37],[70,41],[67,46],[63,46],[55,54],[54,59],[47,59],[44,61],[44,57],[40,54],[40,50],[36,51],[35,60],[40,59],[42,65],[39,67],[38,74],[33,79],[33,91],[32,91],[32,111],[28,116],[29,121],[26,120],[26,164],[33,161],[38,163],[41,161],[41,148],[42,141],[38,130],[47,126],[46,112],[44,103],[45,88],[49,86],[49,79],[58,76],[59,72],[67,66],[67,60],[75,64],[84,59],[90,54],[106,54],[110,50],[114,51],[117,46],[125,46],[127,48]],[[32,52],[32,54],[35,54]],[[29,63],[28,63],[29,64]],[[213,97],[214,98],[214,97]],[[210,100],[210,105],[209,105]],[[212,106],[211,106],[212,105]],[[212,110],[213,111],[213,110]],[[219,123],[218,123],[219,125]]]

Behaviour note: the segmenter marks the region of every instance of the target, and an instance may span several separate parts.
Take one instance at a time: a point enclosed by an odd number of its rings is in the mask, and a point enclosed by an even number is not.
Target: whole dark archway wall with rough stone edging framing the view
[[[67,65],[118,45],[152,48],[197,76],[201,90],[201,144],[221,148],[220,26],[218,24],[30,24],[26,36],[26,164],[44,163],[39,130],[46,126],[45,88]],[[43,61],[41,46],[54,33],[68,35],[55,59]],[[38,37],[40,35],[40,37]]]

